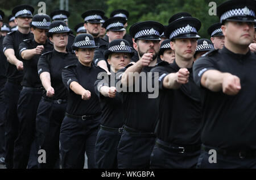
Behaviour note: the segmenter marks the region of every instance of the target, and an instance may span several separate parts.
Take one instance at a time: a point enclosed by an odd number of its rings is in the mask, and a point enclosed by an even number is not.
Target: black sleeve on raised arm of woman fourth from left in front
[[[74,66],[75,67],[75,66]],[[64,68],[61,72],[62,82],[64,83],[64,86],[69,90],[71,82],[77,82],[77,75],[75,72],[75,69],[73,67]]]

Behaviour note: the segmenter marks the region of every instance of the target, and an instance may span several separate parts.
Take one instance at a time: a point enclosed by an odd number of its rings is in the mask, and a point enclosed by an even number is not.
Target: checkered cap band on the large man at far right
[[[239,15],[242,15],[242,16],[250,15],[250,16],[254,16],[254,18],[255,18],[255,12],[253,10],[248,9],[247,7],[244,7],[243,9],[234,9],[234,10],[226,11],[220,17],[221,23],[225,19],[228,19],[232,16],[239,16]]]

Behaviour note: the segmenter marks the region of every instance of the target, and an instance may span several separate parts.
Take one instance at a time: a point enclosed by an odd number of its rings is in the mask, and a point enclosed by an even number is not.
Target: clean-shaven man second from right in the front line
[[[200,20],[184,17],[174,20],[164,32],[175,51],[175,61],[160,62],[151,70],[159,73],[160,99],[151,168],[196,167],[201,146],[201,104],[192,65],[200,27]]]

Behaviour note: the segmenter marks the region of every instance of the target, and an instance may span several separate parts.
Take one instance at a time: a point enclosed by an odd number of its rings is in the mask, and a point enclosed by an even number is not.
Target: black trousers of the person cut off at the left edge
[[[5,91],[6,79],[0,80],[0,157],[5,157],[5,118],[6,118],[6,103]]]

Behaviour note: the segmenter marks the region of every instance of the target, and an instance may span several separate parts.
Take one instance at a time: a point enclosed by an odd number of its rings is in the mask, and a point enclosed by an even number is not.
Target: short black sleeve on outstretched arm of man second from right
[[[167,72],[166,68],[164,68],[164,66],[157,66],[155,68],[153,68],[151,71],[152,73],[152,82],[154,83],[154,79],[157,78],[158,79],[158,86],[160,90],[165,89],[163,87],[163,80],[164,77],[166,77],[168,74],[170,74],[170,72]]]

